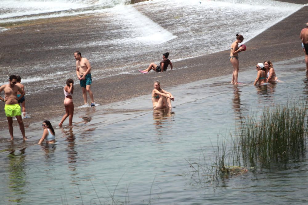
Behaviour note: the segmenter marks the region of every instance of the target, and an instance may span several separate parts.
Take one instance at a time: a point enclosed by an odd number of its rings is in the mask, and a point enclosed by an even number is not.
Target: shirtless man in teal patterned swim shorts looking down
[[[74,57],[76,59],[76,73],[79,79],[79,83],[82,89],[82,96],[84,104],[87,103],[87,92],[91,98],[91,107],[95,106],[93,93],[91,91],[92,76],[91,76],[91,65],[87,58],[81,57],[79,51],[74,52]]]

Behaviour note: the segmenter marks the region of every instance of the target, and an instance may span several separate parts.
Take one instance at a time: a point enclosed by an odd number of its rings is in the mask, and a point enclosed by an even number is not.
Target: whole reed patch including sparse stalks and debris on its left
[[[214,160],[203,154],[193,168],[192,179],[196,184],[216,184],[222,179],[238,176],[256,168],[271,168],[306,156],[308,132],[307,103],[264,108],[255,112],[237,128],[231,138],[218,139],[213,146]],[[202,151],[203,153],[203,151]],[[202,163],[201,163],[202,161]]]

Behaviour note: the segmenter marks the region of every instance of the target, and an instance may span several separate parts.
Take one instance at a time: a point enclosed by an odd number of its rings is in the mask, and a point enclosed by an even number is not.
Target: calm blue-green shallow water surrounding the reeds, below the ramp
[[[151,110],[151,90],[76,109],[74,128],[56,128],[57,144],[49,147],[36,145],[41,122],[27,128],[26,143],[1,138],[1,150],[8,150],[0,152],[0,204],[306,204],[307,161],[248,171],[218,186],[196,183],[187,162],[197,161],[201,149],[213,157],[217,138],[228,137],[252,111],[306,98],[303,61],[275,63],[285,81],[277,85],[253,86],[252,65],[240,72],[238,86],[227,76],[167,88],[176,97],[171,112]]]

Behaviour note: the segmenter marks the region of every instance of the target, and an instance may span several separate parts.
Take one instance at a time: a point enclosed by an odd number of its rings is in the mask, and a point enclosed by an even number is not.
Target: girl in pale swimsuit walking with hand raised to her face
[[[64,99],[64,107],[65,107],[65,115],[62,117],[59,126],[62,127],[64,120],[68,118],[69,126],[72,126],[73,122],[73,115],[74,115],[74,103],[73,103],[73,92],[74,92],[74,81],[73,79],[69,78],[66,81],[66,85],[63,88],[63,92],[65,95]]]

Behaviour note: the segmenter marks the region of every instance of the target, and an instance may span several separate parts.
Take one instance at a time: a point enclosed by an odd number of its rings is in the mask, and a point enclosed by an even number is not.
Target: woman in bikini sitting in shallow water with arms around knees
[[[160,82],[155,81],[154,89],[152,90],[153,109],[172,108],[171,101],[174,101],[172,94],[161,89]]]

